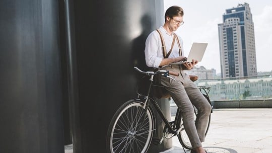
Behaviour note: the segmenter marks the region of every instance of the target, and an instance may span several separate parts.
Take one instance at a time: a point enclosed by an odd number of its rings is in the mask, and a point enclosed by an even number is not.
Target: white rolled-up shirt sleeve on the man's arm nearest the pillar
[[[162,62],[163,57],[160,57],[162,56],[162,53],[160,55],[162,46],[159,39],[159,34],[153,31],[146,40],[145,56],[146,64],[149,67],[159,67]]]

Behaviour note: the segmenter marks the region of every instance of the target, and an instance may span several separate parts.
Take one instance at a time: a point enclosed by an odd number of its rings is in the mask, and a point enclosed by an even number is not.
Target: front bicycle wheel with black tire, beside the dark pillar
[[[154,114],[152,108],[148,107],[140,127],[143,105],[141,100],[132,99],[115,112],[107,131],[106,147],[109,153],[145,153],[148,150],[153,137]]]

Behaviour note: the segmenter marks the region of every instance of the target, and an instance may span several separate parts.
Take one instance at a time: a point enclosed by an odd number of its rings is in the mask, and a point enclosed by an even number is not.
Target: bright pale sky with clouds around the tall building
[[[183,40],[185,55],[188,56],[193,42],[207,42],[206,52],[197,66],[206,69],[220,69],[218,24],[223,23],[226,9],[236,8],[238,4],[249,4],[254,23],[257,71],[272,70],[272,1],[271,0],[164,0],[165,11],[173,6],[184,10],[184,24],[177,34]]]

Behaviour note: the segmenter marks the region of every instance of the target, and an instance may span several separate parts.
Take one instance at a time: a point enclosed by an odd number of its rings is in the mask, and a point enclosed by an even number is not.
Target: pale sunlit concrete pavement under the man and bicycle
[[[173,147],[161,153],[184,153],[176,136],[172,142]],[[271,153],[272,108],[214,109],[202,145],[208,152]],[[73,153],[73,146],[65,146],[65,153]]]

